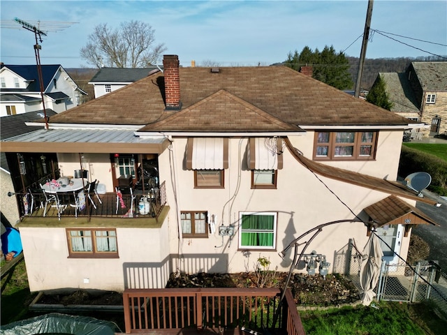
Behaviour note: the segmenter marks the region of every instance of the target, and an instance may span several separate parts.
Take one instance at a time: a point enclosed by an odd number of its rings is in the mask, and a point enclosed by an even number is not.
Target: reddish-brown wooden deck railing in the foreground
[[[181,329],[281,329],[304,335],[291,291],[279,304],[277,288],[124,290],[126,334]],[[275,325],[274,314],[278,313]]]

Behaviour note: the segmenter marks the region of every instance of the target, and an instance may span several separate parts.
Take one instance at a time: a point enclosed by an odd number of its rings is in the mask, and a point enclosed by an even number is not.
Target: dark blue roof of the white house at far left
[[[28,85],[28,88],[25,91],[29,92],[38,92],[40,91],[40,82],[39,76],[37,73],[36,65],[3,65],[2,68],[9,68],[11,71],[20,75],[25,80],[34,80]],[[43,79],[43,87],[44,89],[50,84],[52,78],[56,74],[56,71],[60,68],[60,65],[42,65],[42,79]]]

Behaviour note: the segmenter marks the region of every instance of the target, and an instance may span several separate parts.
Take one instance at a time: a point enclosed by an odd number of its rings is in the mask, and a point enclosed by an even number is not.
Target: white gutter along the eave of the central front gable
[[[297,135],[306,135],[305,131],[275,131],[275,132],[253,132],[253,133],[235,133],[235,132],[221,132],[221,133],[206,133],[206,132],[180,132],[180,131],[148,131],[148,132],[142,132],[142,131],[135,131],[135,136],[140,137],[154,137],[154,136],[179,136],[179,137],[228,137],[228,136],[234,136],[234,137],[254,137],[254,136],[297,136]]]

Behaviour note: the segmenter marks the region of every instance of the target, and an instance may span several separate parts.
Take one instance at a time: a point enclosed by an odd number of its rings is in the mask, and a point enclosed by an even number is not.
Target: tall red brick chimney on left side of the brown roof
[[[163,56],[163,73],[165,76],[166,110],[179,110],[181,107],[179,57],[176,54]]]

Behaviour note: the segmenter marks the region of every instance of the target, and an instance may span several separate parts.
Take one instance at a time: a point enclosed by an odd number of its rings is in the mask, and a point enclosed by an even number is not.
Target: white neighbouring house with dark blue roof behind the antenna
[[[42,65],[45,110],[64,112],[81,104],[85,93],[60,65]],[[0,116],[43,110],[41,82],[36,65],[5,65],[0,68]]]

